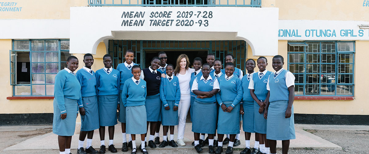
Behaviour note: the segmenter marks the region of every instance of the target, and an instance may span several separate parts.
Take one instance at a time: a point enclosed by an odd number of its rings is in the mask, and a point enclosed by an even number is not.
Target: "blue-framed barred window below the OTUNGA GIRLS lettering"
[[[355,42],[289,42],[288,70],[297,96],[354,96]]]

